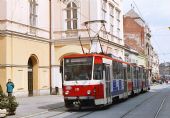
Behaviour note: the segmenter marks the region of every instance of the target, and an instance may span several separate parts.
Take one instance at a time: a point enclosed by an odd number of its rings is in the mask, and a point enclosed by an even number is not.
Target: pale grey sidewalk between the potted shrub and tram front
[[[19,103],[16,115],[8,116],[7,118],[22,118],[24,116],[46,112],[49,109],[64,106],[63,96],[61,95],[20,97],[16,99]]]

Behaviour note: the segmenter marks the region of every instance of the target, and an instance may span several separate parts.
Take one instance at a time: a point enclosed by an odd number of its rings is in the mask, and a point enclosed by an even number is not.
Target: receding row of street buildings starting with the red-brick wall
[[[136,64],[149,70],[149,80],[159,77],[159,59],[151,44],[151,31],[145,21],[131,9],[124,15],[125,45],[138,55],[126,50],[127,60],[136,59]],[[135,58],[136,57],[136,58]],[[135,61],[131,61],[134,63]]]

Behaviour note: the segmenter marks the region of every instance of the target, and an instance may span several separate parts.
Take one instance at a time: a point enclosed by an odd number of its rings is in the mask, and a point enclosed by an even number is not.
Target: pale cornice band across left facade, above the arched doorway
[[[8,19],[0,20],[0,25],[2,26],[2,28],[0,29],[0,36],[18,36],[29,38],[31,40],[36,41],[50,42],[48,38],[49,31],[46,29],[33,27],[27,24],[19,23]],[[10,29],[10,27],[12,29]],[[16,30],[13,28],[15,28]],[[31,29],[34,29],[36,32],[30,33]],[[42,36],[40,33],[45,34],[46,36]]]

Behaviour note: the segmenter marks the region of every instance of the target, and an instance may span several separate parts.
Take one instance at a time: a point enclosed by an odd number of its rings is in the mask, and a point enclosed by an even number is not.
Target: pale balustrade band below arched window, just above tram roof
[[[91,38],[89,38],[89,34]],[[97,39],[96,33],[94,31],[88,33],[87,29],[54,31],[53,35],[56,46],[80,44],[79,36],[83,45],[90,45],[91,40]],[[123,39],[103,30],[99,33],[99,40],[105,45],[125,48]]]

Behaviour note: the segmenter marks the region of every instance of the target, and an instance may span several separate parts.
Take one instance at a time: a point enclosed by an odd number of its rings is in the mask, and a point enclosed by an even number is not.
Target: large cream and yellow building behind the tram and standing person
[[[60,61],[83,53],[79,36],[85,53],[101,50],[89,40],[97,41],[98,34],[103,52],[124,60],[122,0],[0,0],[0,11],[0,84],[6,91],[12,79],[16,96],[50,94],[55,88],[61,93]],[[86,21],[107,22],[86,27]]]

